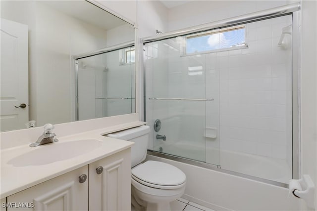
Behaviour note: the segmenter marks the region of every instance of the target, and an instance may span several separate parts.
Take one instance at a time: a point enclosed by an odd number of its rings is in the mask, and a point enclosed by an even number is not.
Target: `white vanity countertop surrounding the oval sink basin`
[[[133,127],[139,125],[144,125],[144,123],[139,122]],[[129,127],[132,127],[132,125]],[[120,126],[117,126],[117,128],[120,128]],[[127,125],[121,126],[121,128],[126,129]],[[64,137],[56,136],[56,138],[59,140],[58,142],[37,147],[29,147],[28,144],[23,144],[20,146],[1,150],[0,198],[2,199],[39,183],[52,179],[56,176],[62,175],[71,170],[78,169],[100,159],[103,159],[107,156],[115,154],[116,152],[128,149],[133,145],[133,143],[129,141],[119,140],[102,135],[105,133],[113,132],[114,130],[118,131],[120,129],[102,128]],[[23,156],[26,153],[32,154],[32,151],[39,150],[41,149],[41,147],[50,147],[50,145],[63,144],[66,142],[86,139],[100,140],[101,146],[98,146],[98,148],[87,153],[77,155],[76,157],[56,161],[53,163],[40,165],[12,165],[12,159]],[[58,152],[52,151],[52,154],[49,154],[47,156],[61,155],[59,155]],[[43,156],[43,158],[38,159],[46,159],[46,157]]]

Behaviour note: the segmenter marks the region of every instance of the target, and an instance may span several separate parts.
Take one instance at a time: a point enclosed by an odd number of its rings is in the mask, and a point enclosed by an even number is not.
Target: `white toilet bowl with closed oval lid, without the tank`
[[[133,197],[147,211],[169,211],[170,202],[184,194],[185,186],[185,174],[169,164],[147,161],[131,169]]]

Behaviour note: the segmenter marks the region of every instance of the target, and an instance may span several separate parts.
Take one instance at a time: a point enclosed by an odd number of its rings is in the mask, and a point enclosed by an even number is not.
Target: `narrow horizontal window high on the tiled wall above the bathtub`
[[[239,25],[185,36],[183,55],[246,48],[245,32]]]

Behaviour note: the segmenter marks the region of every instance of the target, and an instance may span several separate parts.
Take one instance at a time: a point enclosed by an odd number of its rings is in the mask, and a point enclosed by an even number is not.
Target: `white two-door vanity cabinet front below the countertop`
[[[130,166],[128,148],[8,196],[7,204],[24,203],[28,208],[11,206],[7,211],[130,210]],[[79,177],[83,174],[87,179],[80,183]]]

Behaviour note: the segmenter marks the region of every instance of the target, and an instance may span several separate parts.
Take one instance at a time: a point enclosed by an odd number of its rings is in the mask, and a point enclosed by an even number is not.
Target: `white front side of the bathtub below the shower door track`
[[[234,158],[238,157],[235,156]],[[242,156],[241,159],[244,160],[245,158]],[[256,160],[257,158],[254,159]],[[288,188],[153,155],[148,155],[147,160],[165,162],[181,169],[186,174],[186,189],[182,198],[211,208],[212,210],[300,210],[301,199],[293,195],[289,196]],[[233,160],[232,165],[238,163],[237,161],[238,159],[236,161]],[[258,162],[254,164],[258,164]],[[258,167],[259,169],[260,167]]]

